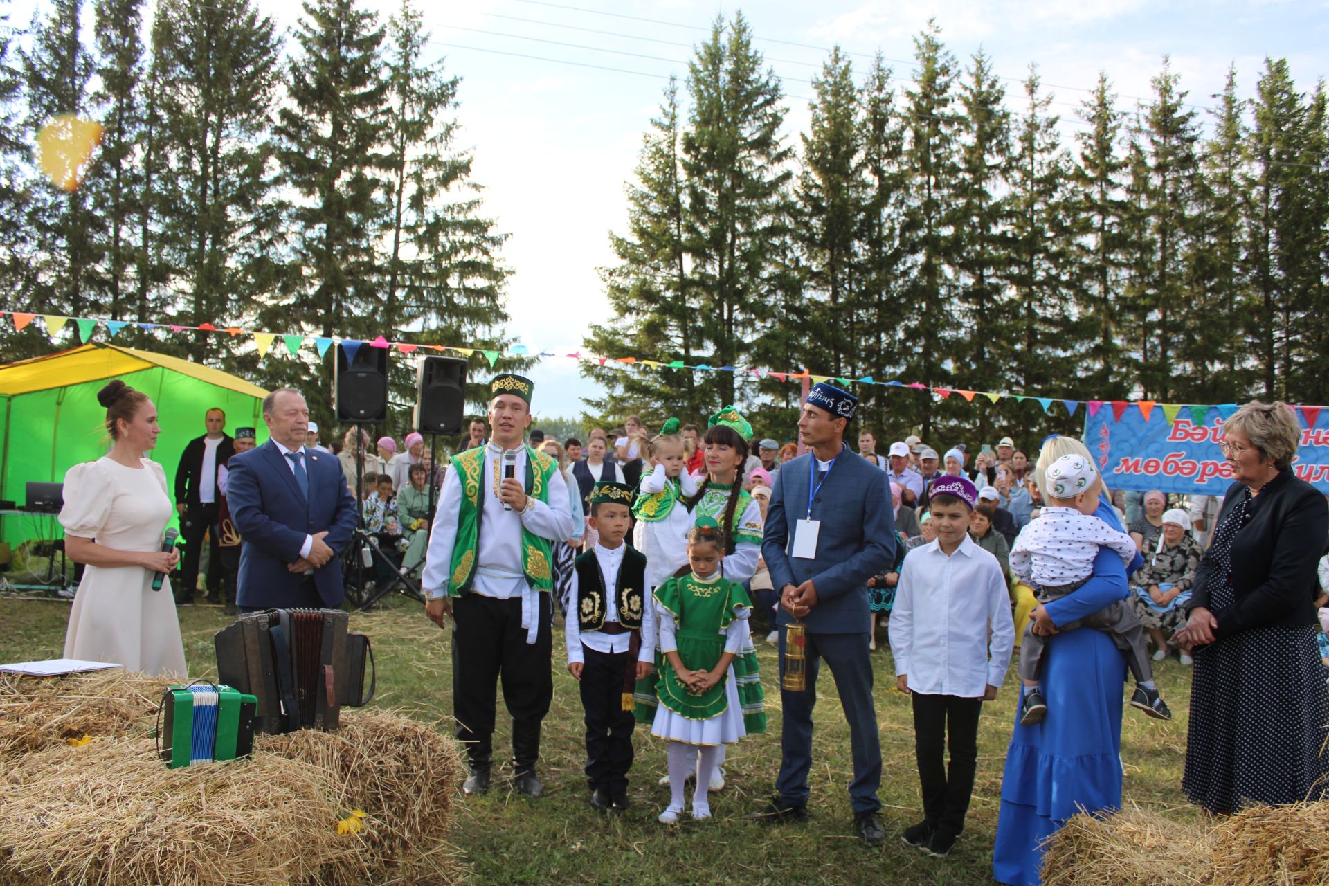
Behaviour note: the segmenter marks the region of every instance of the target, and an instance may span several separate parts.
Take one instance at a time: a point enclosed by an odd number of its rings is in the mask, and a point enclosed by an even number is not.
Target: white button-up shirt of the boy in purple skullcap
[[[982,697],[987,685],[1006,679],[1014,648],[1010,596],[995,557],[968,534],[949,557],[940,541],[909,551],[890,610],[890,654],[910,692]]]

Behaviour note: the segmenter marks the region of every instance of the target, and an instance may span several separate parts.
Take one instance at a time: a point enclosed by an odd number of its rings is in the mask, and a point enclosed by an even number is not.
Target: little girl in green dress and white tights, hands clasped
[[[683,813],[683,789],[699,752],[692,818],[710,818],[707,786],[720,749],[750,732],[766,732],[766,704],[747,619],[752,603],[743,586],[720,574],[724,534],[706,521],[688,534],[688,575],[655,588],[662,667],[659,707],[651,735],[668,739],[671,800],[659,820]]]

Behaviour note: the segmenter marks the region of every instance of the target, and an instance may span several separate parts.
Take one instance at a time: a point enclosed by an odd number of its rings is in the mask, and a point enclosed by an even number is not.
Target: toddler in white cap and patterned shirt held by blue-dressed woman
[[[1136,553],[1130,535],[1094,515],[1102,486],[1094,462],[1080,456],[1062,456],[1047,468],[1045,482],[1046,503],[1015,538],[1010,551],[1010,571],[1035,590],[1039,603],[1061,599],[1082,587],[1094,573],[1099,546],[1111,547],[1126,565]],[[1090,616],[1063,624],[1061,630],[1078,627],[1103,631],[1112,638],[1116,648],[1126,652],[1126,664],[1136,681],[1131,707],[1159,720],[1172,719],[1154,684],[1144,626],[1130,603],[1118,600]],[[1027,623],[1019,644],[1019,676],[1025,681],[1025,703],[1019,711],[1022,725],[1042,723],[1047,716],[1047,703],[1038,684],[1045,646],[1045,639],[1034,634],[1033,622]]]

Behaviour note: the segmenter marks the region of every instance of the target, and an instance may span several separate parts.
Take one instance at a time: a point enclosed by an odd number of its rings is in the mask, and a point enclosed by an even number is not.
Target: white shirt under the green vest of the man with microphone
[[[538,630],[538,600],[526,580],[521,565],[521,530],[526,529],[540,538],[552,542],[571,538],[571,505],[567,501],[567,484],[561,472],[549,477],[549,503],[534,498],[525,513],[506,510],[502,499],[494,491],[494,470],[502,477],[504,452],[498,446],[485,444],[480,465],[480,505],[482,527],[480,530],[480,550],[476,551],[476,574],[470,590],[482,596],[506,600],[520,596],[522,600],[521,626],[528,630],[528,643],[536,642]],[[526,476],[526,446],[517,449],[514,476]],[[457,519],[461,515],[461,472],[449,470],[439,493],[439,510],[433,515],[433,529],[429,533],[429,549],[425,554],[424,574],[420,586],[429,599],[447,596],[452,578],[452,550],[457,543]]]

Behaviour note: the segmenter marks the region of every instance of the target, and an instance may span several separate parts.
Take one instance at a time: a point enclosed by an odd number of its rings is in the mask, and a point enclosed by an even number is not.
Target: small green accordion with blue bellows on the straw
[[[158,753],[171,769],[247,757],[258,699],[229,685],[166,687],[158,709]]]

